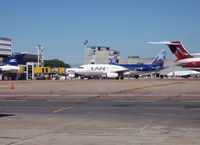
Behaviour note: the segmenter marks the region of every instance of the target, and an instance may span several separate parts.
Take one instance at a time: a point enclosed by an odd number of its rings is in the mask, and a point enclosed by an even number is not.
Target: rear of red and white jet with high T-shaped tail
[[[187,67],[193,70],[200,71],[200,57],[191,55],[182,45],[180,41],[161,41],[161,42],[148,42],[149,44],[165,44],[168,45],[171,52],[176,58],[176,65]]]

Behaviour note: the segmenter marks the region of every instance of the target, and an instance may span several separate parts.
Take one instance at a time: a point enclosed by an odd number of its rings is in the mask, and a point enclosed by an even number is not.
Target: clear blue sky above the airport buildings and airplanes
[[[167,46],[148,41],[180,40],[200,52],[200,0],[0,0],[0,37],[13,40],[13,51],[45,59],[83,64],[83,41],[109,46],[121,57],[154,57]]]

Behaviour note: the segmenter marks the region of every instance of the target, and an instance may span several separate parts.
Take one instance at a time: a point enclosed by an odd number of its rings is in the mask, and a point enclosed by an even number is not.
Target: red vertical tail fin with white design
[[[188,51],[183,47],[180,41],[171,42],[168,44],[168,46],[177,60],[194,58],[194,56],[190,55]]]

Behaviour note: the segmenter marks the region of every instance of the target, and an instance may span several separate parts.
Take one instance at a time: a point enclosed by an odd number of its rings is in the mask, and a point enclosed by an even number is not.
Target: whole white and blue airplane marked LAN
[[[113,57],[109,64],[87,64],[79,68],[68,68],[66,74],[69,78],[77,75],[81,76],[103,76],[106,78],[122,78],[124,76],[140,74],[151,74],[164,69],[166,50],[161,50],[151,64],[116,64],[117,55]]]

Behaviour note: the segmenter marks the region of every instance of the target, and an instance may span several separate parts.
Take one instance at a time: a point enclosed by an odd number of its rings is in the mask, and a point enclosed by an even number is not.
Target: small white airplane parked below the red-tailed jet
[[[196,75],[200,75],[200,72],[188,70],[188,71],[173,71],[167,74],[168,77],[184,77],[184,78],[188,78],[190,76],[196,76]]]

